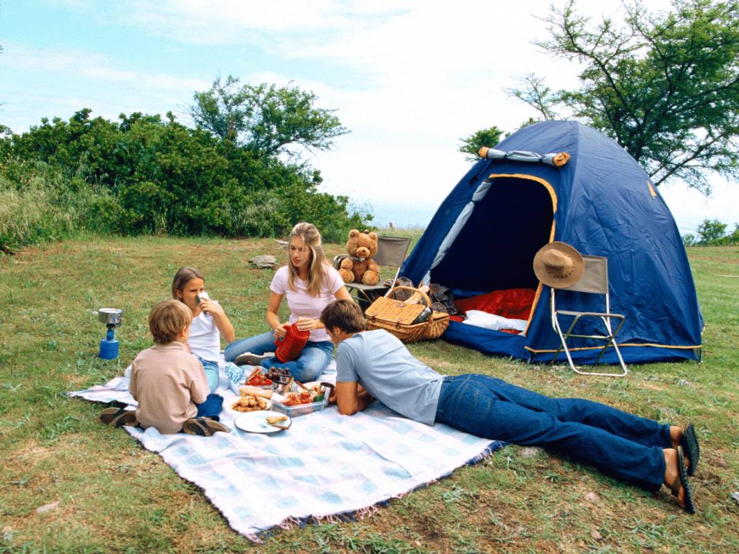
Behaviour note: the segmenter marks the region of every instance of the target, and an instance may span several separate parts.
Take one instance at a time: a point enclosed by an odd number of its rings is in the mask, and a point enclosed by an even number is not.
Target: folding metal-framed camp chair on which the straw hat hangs
[[[601,256],[582,256],[582,261],[585,262],[585,268],[582,273],[582,278],[580,278],[580,280],[577,281],[575,284],[569,287],[562,287],[559,290],[572,290],[577,293],[605,295],[605,312],[576,312],[571,310],[556,310],[556,300],[554,292],[555,289],[553,287],[551,290],[552,326],[557,332],[557,335],[559,335],[559,340],[561,341],[562,346],[560,346],[558,349],[556,349],[556,352],[554,352],[552,363],[554,363],[554,360],[556,360],[559,352],[562,352],[562,350],[564,349],[565,354],[567,355],[567,360],[570,363],[570,367],[572,368],[573,372],[579,373],[580,375],[607,375],[610,377],[624,377],[624,375],[627,375],[628,370],[626,369],[624,358],[621,358],[621,351],[619,350],[619,346],[616,344],[616,335],[618,335],[621,326],[624,324],[625,316],[610,312],[610,298],[608,294],[608,259]],[[562,318],[562,316],[564,316],[565,318],[573,318],[569,328],[567,329],[567,332],[565,333],[562,332],[562,322],[560,321],[560,318]],[[602,321],[602,324],[605,326],[606,334],[577,335],[576,333],[574,333],[573,329],[575,328],[576,324],[580,320],[585,318],[594,318],[596,320]],[[611,326],[612,319],[619,320],[618,325],[616,325],[616,329],[613,329]],[[580,371],[576,368],[575,364],[572,361],[570,348],[567,344],[568,339],[571,337],[589,338],[594,341],[605,341],[605,346],[603,346],[603,348],[601,349],[601,352],[598,355],[598,359],[595,361],[595,363],[593,363],[594,366],[597,366],[601,358],[603,358],[606,349],[609,346],[613,346],[616,355],[619,357],[619,363],[621,363],[621,369],[623,371],[621,373]]]

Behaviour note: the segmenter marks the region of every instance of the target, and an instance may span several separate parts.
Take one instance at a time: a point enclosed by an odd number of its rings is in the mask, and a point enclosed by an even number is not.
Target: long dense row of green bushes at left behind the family
[[[16,160],[0,163],[4,250],[72,230],[284,236],[299,221],[343,242],[372,219],[350,213],[346,196],[320,193],[319,171],[305,164],[260,157],[171,114],[120,120],[83,109],[0,139],[0,160]]]

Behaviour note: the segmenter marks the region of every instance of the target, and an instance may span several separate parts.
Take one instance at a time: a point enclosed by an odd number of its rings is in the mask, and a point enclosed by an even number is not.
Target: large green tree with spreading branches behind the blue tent
[[[509,91],[543,119],[565,109],[623,146],[655,185],[739,177],[739,2],[673,0],[669,13],[624,4],[624,24],[579,16],[575,0],[545,19],[552,55],[582,65],[580,86],[552,92],[529,75]]]

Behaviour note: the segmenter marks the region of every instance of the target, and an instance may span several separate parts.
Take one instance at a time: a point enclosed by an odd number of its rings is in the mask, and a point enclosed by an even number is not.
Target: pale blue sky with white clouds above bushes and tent
[[[537,116],[503,89],[531,73],[553,89],[578,83],[576,64],[532,44],[548,37],[550,1],[0,0],[0,123],[21,133],[86,107],[191,124],[193,93],[219,75],[299,86],[351,131],[333,151],[305,154],[321,191],[381,225],[423,226],[469,168],[461,138]],[[578,10],[617,16],[619,5]],[[660,187],[681,233],[704,219],[739,223],[739,183],[711,183],[709,198]]]

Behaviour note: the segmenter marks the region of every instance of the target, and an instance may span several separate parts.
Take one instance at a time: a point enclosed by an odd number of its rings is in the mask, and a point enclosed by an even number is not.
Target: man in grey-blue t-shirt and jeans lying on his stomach
[[[333,301],[321,323],[337,347],[336,389],[329,402],[341,414],[353,415],[377,398],[420,423],[549,448],[646,490],[664,484],[684,510],[695,513],[688,476],[700,450],[692,424],[660,425],[590,400],[545,397],[488,375],[439,375],[389,332],[365,331],[353,301]]]

